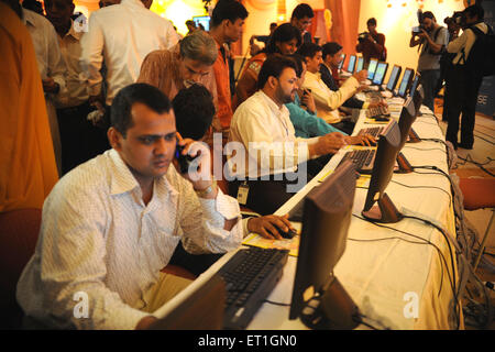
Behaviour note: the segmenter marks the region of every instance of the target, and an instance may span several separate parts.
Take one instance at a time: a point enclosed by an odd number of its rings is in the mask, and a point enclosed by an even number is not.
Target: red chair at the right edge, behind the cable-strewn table
[[[464,209],[477,210],[484,208],[492,209],[492,217],[488,221],[482,243],[480,244],[479,253],[474,261],[474,271],[476,271],[480,260],[485,250],[485,242],[488,238],[490,229],[492,228],[495,216],[495,178],[461,178],[459,183],[462,195],[464,196]]]

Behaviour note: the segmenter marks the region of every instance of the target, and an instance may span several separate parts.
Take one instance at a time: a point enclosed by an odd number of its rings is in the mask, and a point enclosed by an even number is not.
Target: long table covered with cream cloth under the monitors
[[[389,101],[393,118],[398,119],[400,103],[398,99]],[[425,107],[422,112],[429,112]],[[362,114],[354,133],[362,128],[373,127],[365,123]],[[413,128],[420,138],[443,139],[435,117],[418,117]],[[329,172],[334,169],[344,154],[341,150],[310,183],[282,206],[277,215],[288,212],[294,205],[317,186]],[[413,166],[436,165],[448,172],[446,148],[443,144],[424,141],[407,143],[403,154]],[[432,173],[419,170],[419,173]],[[435,173],[435,172],[433,172]],[[409,188],[417,187],[417,188]],[[367,187],[367,186],[366,186]],[[426,188],[429,187],[429,188]],[[394,174],[387,187],[387,194],[404,213],[435,221],[450,233],[454,233],[451,191],[448,179],[437,174]],[[451,329],[449,322],[450,288],[446,262],[450,273],[450,254],[441,233],[432,227],[413,219],[404,219],[388,227],[417,235],[399,233],[380,228],[361,220],[367,189],[358,188],[353,217],[351,220],[346,249],[334,268],[334,274],[348,290],[363,315],[371,318],[369,322],[377,328],[391,329]],[[433,243],[444,255],[441,260],[438,251],[427,241]],[[155,312],[165,316],[178,305],[190,292],[207,280],[226,263],[233,253],[226,254],[207,272],[200,275],[185,292]],[[289,256],[284,275],[270,297],[271,301],[290,304],[297,257]],[[248,329],[306,329],[300,320],[288,320],[289,307],[264,304]]]

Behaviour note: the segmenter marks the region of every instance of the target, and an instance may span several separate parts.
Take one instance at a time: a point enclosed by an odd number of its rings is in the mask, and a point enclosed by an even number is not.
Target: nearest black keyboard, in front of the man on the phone
[[[245,329],[280,279],[288,251],[240,250],[219,271],[226,282],[224,329]]]

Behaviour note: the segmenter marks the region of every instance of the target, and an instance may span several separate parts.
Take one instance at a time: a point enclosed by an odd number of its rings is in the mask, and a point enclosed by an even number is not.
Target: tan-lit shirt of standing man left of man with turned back
[[[70,20],[70,29],[64,37],[57,35],[62,56],[64,57],[67,67],[67,89],[57,96],[56,105],[58,108],[77,107],[89,98],[88,80],[81,75],[82,69],[80,68],[79,62],[81,54],[81,36],[82,32],[75,30],[73,20]]]

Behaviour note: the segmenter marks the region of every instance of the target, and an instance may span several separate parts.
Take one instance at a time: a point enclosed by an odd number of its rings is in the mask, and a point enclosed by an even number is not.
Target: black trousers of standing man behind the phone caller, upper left
[[[101,145],[105,145],[107,140],[106,135],[103,136],[105,132],[87,120],[91,110],[94,108],[88,101],[77,107],[57,109],[63,174],[98,155]]]

